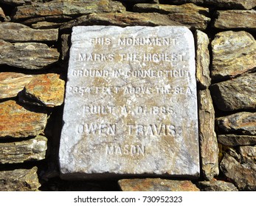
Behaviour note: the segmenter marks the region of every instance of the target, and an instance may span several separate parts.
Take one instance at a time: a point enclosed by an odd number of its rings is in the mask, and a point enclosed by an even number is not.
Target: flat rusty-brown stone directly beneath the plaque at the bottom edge
[[[124,179],[118,184],[122,191],[200,191],[189,180]]]

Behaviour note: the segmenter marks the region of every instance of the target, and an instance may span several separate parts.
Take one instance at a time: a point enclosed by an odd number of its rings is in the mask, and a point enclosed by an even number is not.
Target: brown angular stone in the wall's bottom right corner
[[[255,162],[244,163],[241,157],[232,152],[232,154],[225,154],[221,161],[221,171],[228,177],[235,186],[242,191],[256,190],[256,165]]]

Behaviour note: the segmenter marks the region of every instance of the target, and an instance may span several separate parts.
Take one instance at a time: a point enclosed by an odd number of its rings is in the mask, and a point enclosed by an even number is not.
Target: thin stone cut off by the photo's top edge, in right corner
[[[217,7],[246,10],[251,10],[253,7],[256,7],[255,0],[170,0],[170,2],[179,4],[187,2],[194,4],[212,4]]]

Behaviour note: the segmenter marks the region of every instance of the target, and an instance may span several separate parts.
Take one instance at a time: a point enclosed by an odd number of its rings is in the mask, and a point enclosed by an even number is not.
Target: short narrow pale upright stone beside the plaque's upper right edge
[[[206,89],[210,86],[210,54],[209,38],[207,34],[196,30],[196,81],[199,88]]]

